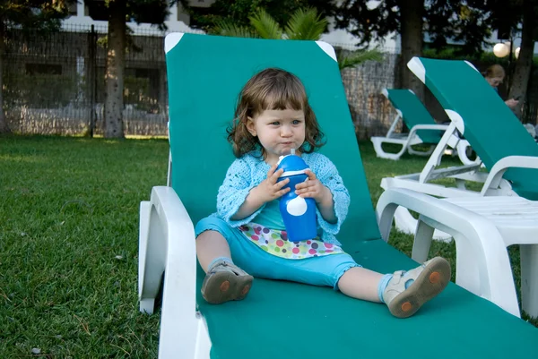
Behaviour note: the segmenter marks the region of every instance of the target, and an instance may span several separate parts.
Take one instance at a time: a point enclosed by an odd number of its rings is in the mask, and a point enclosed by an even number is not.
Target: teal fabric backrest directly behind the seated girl
[[[219,186],[234,159],[226,128],[239,91],[255,73],[279,67],[303,81],[325,132],[321,152],[334,162],[351,194],[339,240],[344,244],[380,237],[332,47],[315,41],[179,33],[170,34],[165,47],[171,185],[194,222],[216,210]]]

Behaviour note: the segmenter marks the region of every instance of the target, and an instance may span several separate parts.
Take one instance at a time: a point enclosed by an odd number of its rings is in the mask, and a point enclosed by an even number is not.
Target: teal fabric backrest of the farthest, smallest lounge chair
[[[412,90],[386,89],[386,98],[402,113],[404,123],[411,130],[417,124],[436,124],[430,112],[422,105]],[[438,143],[444,131],[417,131],[421,140],[425,143]]]

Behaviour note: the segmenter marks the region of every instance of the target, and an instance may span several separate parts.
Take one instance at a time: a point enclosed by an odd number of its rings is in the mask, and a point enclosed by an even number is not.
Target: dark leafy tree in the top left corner
[[[10,132],[4,115],[4,40],[9,29],[59,30],[67,13],[68,0],[4,0],[0,2],[0,133]]]

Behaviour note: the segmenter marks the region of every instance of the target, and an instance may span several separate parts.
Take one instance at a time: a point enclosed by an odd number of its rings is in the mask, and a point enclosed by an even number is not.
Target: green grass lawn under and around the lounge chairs
[[[360,150],[374,203],[382,177],[425,163]],[[167,159],[166,140],[0,137],[0,358],[157,356],[160,314],[138,312],[138,206],[166,184]],[[412,236],[391,244],[410,255]],[[454,244],[430,255],[456,267]]]

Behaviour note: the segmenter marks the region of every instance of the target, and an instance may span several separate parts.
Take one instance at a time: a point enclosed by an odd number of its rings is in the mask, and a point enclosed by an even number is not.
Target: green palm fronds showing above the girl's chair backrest
[[[327,27],[327,21],[316,9],[299,9],[291,15],[290,21],[282,30],[281,25],[273,17],[260,9],[254,16],[248,18],[250,28],[237,26],[231,21],[219,21],[213,33],[221,36],[236,38],[286,38],[291,40],[318,40]],[[381,61],[383,55],[377,50],[356,50],[343,55],[338,53],[337,60],[340,70],[352,67],[365,61]]]

